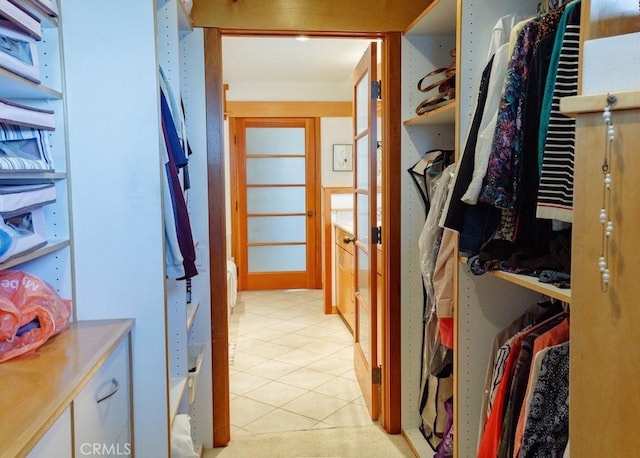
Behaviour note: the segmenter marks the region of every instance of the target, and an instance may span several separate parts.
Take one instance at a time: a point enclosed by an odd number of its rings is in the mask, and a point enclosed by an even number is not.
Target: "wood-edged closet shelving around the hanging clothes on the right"
[[[457,157],[466,141],[480,76],[486,64],[491,32],[498,19],[515,13],[535,15],[536,1],[517,7],[505,0],[488,2],[434,1],[405,31],[403,39],[403,165],[409,168],[421,154],[455,147]],[[412,115],[424,94],[415,85],[428,71],[446,65],[456,49],[456,101],[423,116]],[[415,185],[403,179],[403,433],[418,456],[432,456],[418,430],[417,393],[422,342],[422,291],[417,240],[424,224]],[[537,278],[492,271],[470,272],[463,259],[456,263],[454,431],[455,456],[476,455],[480,398],[489,350],[495,334],[525,308],[544,298],[570,303],[571,290],[540,283]],[[408,379],[408,380],[407,380]]]

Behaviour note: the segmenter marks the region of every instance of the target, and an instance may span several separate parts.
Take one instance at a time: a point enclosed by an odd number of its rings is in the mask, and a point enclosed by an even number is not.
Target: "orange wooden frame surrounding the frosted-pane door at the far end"
[[[259,109],[258,109],[259,110]],[[309,139],[310,133],[308,131],[305,132],[305,139],[307,143],[309,143],[309,149],[312,150],[311,154],[313,154],[313,161],[310,163],[307,161],[305,176],[306,180],[309,179],[311,174],[315,177],[315,184],[318,185],[321,182],[321,152],[320,152],[320,118],[313,116],[295,116],[295,117],[282,117],[282,116],[269,116],[263,115],[260,111],[255,111],[252,116],[238,116],[233,117],[229,116],[229,178],[230,178],[230,189],[231,189],[231,232],[232,234],[238,234],[240,228],[242,227],[241,218],[243,215],[240,214],[237,208],[239,196],[240,196],[240,181],[238,179],[239,174],[242,172],[242,164],[237,161],[237,142],[235,139],[232,140],[231,135],[235,134],[238,126],[236,125],[238,119],[249,119],[249,120],[265,120],[265,121],[274,121],[278,119],[291,120],[296,119],[299,121],[304,120],[305,125],[307,121],[311,124],[311,128],[313,129],[313,138]],[[306,128],[305,128],[306,130]],[[315,248],[313,252],[307,252],[307,257],[309,261],[316,266],[318,265],[318,260],[321,259],[322,256],[322,231],[321,225],[322,221],[320,219],[320,200],[322,197],[322,193],[320,192],[320,186],[316,186],[317,189],[313,190],[312,195],[310,196],[310,200],[312,202],[307,202],[306,211],[311,210],[314,212],[314,220],[312,221],[311,232],[313,233],[313,242]],[[235,210],[234,210],[235,207]],[[243,247],[240,244],[240,240],[238,237],[232,237],[231,239],[231,250],[232,256],[236,259],[238,263],[238,271],[247,263],[247,256],[243,251]],[[241,278],[238,278],[238,289],[245,290],[246,284],[245,282],[240,281]],[[307,288],[317,289],[322,287],[322,266],[316,267],[314,269],[314,275],[307,279]]]

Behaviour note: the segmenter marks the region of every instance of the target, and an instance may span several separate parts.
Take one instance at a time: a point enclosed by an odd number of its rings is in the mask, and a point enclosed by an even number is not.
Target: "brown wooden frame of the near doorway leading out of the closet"
[[[207,183],[209,196],[209,280],[211,284],[211,359],[213,373],[213,445],[231,439],[229,401],[229,322],[227,310],[227,253],[224,168],[224,89],[222,37],[232,34],[205,28],[205,97],[207,120]],[[300,32],[300,31],[295,31]],[[287,34],[294,34],[288,32]],[[252,31],[273,35],[273,32]],[[382,427],[402,432],[401,420],[401,302],[400,302],[400,187],[401,52],[402,34],[322,33],[325,37],[383,38],[382,42],[382,164],[383,164],[383,369]],[[386,152],[386,154],[385,154]]]

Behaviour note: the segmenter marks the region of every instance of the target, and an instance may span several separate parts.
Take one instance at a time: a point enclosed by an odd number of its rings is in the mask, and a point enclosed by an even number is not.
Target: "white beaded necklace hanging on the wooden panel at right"
[[[604,107],[602,117],[607,126],[604,142],[604,158],[602,160],[602,207],[600,208],[600,224],[602,224],[602,245],[598,267],[600,268],[600,289],[607,292],[609,281],[611,280],[611,268],[609,266],[609,243],[613,235],[613,221],[611,221],[611,168],[613,143],[616,137],[613,127],[613,117],[611,109],[616,104],[617,99],[611,94],[607,94],[607,106]]]

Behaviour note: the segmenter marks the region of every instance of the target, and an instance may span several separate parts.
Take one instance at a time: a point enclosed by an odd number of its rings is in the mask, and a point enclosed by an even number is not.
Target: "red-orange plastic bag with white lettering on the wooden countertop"
[[[69,327],[71,301],[27,272],[0,272],[0,362],[34,352]]]

